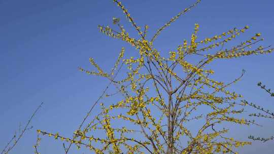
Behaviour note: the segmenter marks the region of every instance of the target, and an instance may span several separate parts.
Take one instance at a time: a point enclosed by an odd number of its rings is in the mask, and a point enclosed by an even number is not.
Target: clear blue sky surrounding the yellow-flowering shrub
[[[148,34],[151,36],[194,2],[149,0],[123,1],[123,4],[139,25],[150,26]],[[237,42],[261,32],[265,38],[261,45],[274,45],[273,6],[274,2],[270,0],[202,1],[165,29],[155,41],[155,47],[166,53],[176,49],[183,39],[190,38],[195,23],[200,25],[199,38],[249,25],[250,29]],[[25,124],[41,102],[44,106],[31,122],[33,129],[25,133],[11,153],[33,152],[37,129],[72,136],[89,106],[107,85],[102,78],[80,72],[78,66],[92,68],[88,59],[93,57],[102,68],[109,70],[115,61],[113,57],[117,57],[125,46],[97,29],[98,24],[114,26],[112,17],[119,17],[129,33],[137,36],[122,11],[110,0],[0,0],[1,150],[19,124]],[[230,82],[245,69],[243,80],[232,89],[243,94],[246,100],[274,111],[273,99],[256,86],[261,81],[274,88],[273,58],[273,54],[268,54],[218,61],[214,65],[216,78]],[[264,127],[232,128],[232,136],[247,139],[250,134],[274,135],[271,134],[273,121],[258,119],[258,122]],[[271,141],[254,142],[253,146],[240,151],[271,153],[274,151],[271,145]],[[45,136],[40,152],[62,153],[61,142]],[[71,153],[82,152],[73,148]]]

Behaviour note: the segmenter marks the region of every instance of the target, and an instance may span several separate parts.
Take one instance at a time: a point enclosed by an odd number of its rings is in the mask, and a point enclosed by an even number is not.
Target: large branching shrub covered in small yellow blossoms
[[[87,74],[106,78],[117,89],[112,94],[106,94],[105,90],[102,97],[120,94],[123,98],[113,104],[100,103],[101,112],[84,125],[93,106],[73,138],[41,130],[38,133],[69,142],[70,146],[64,147],[65,153],[73,144],[78,148],[89,148],[95,153],[168,154],[237,153],[234,151],[235,147],[251,144],[226,136],[227,128],[220,129],[227,122],[236,125],[254,124],[247,119],[237,118],[243,113],[246,104],[237,102],[243,97],[241,94],[227,89],[243,76],[244,71],[234,81],[224,83],[213,80],[214,70],[207,66],[217,59],[271,53],[273,48],[255,47],[263,41],[261,33],[226,49],[225,45],[246,32],[249,26],[198,39],[199,24],[194,24],[190,41],[184,40],[176,51],[170,51],[169,56],[164,57],[153,45],[157,36],[200,1],[173,17],[150,40],[146,36],[149,26],[145,25],[142,30],[121,2],[114,0],[114,3],[140,37],[131,37],[119,24],[118,18],[113,18],[118,30],[101,25],[98,29],[110,37],[127,42],[136,49],[138,57],[124,58],[126,49],[122,48],[110,72],[104,71],[93,58],[89,61],[95,70],[79,69]],[[190,57],[199,61],[193,63],[189,60]],[[125,78],[116,80],[117,73],[123,66],[127,67]],[[98,101],[95,104],[97,103]],[[207,112],[198,115],[196,112],[200,108],[207,108]],[[187,127],[191,121],[201,123],[196,132]],[[138,138],[131,137],[132,134]]]

